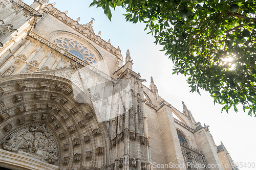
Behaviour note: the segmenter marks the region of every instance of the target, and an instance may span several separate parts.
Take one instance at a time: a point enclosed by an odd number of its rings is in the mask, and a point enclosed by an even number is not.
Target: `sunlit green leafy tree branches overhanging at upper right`
[[[256,111],[256,4],[254,0],[94,0],[111,19],[111,8],[126,9],[127,21],[146,23],[155,43],[175,64],[173,74],[189,75],[191,92],[204,89],[215,103],[241,103]]]

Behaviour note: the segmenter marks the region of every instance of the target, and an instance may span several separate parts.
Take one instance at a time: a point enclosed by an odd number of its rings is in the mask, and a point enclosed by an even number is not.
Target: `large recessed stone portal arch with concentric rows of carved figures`
[[[0,152],[13,161],[0,162],[17,169],[105,169],[109,137],[97,114],[90,97],[67,79],[2,77]]]

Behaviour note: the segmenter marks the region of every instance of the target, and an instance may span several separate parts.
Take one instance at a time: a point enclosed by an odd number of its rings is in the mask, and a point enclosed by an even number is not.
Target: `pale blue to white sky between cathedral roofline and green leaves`
[[[28,5],[33,0],[24,0]],[[222,105],[214,105],[213,98],[208,92],[203,90],[198,93],[190,93],[189,85],[186,83],[187,77],[184,75],[172,75],[173,63],[165,52],[160,52],[161,45],[155,45],[154,37],[146,34],[144,23],[133,24],[126,22],[125,13],[121,7],[112,11],[112,21],[104,15],[102,8],[91,7],[89,5],[93,0],[54,0],[55,8],[61,12],[68,10],[68,16],[76,20],[80,17],[80,24],[93,21],[93,29],[97,35],[101,31],[101,38],[105,41],[111,40],[115,47],[120,46],[121,54],[125,59],[126,51],[130,50],[130,55],[134,60],[133,70],[139,72],[143,83],[150,87],[151,76],[158,88],[159,95],[176,109],[182,112],[182,101],[184,101],[188,110],[193,114],[195,120],[202,125],[209,126],[209,131],[214,137],[216,145],[221,141],[228,150],[234,162],[245,163],[254,162],[256,164],[256,117],[247,116],[242,107],[238,107],[236,113],[230,109],[229,114],[221,113]],[[123,63],[124,64],[124,63]],[[254,169],[240,167],[240,170]]]

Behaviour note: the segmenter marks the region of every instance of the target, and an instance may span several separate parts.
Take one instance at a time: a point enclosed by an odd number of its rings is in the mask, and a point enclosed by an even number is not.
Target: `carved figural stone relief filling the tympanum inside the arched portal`
[[[49,163],[54,163],[58,157],[55,141],[48,132],[46,125],[34,125],[11,134],[3,143],[7,151],[22,150],[24,153],[41,155]]]

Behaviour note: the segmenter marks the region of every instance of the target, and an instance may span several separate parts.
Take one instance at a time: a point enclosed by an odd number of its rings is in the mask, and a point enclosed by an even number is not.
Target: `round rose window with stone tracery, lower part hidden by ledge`
[[[97,59],[94,54],[82,43],[70,38],[56,38],[53,43],[87,64],[98,68]]]

